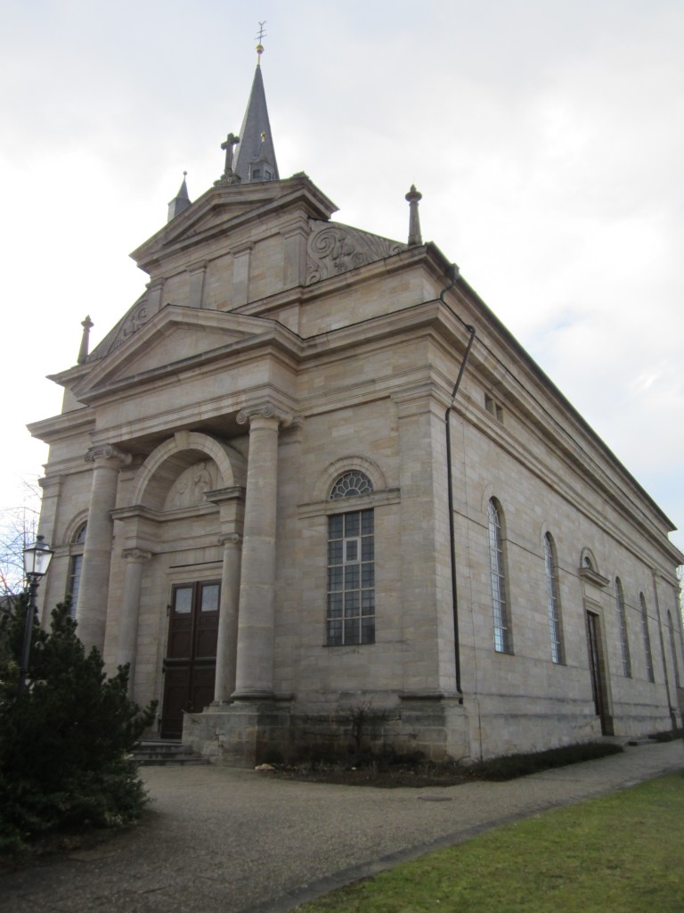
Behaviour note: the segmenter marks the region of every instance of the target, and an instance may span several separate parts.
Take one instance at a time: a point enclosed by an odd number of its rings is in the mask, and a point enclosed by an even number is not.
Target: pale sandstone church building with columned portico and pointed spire
[[[30,425],[44,622],[71,594],[83,642],[159,700],[150,735],[217,763],[680,726],[673,525],[423,242],[420,193],[406,240],[333,221],[280,176],[258,64],[222,149]]]

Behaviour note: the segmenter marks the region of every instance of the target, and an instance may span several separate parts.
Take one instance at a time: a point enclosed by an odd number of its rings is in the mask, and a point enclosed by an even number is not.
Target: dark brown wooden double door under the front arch
[[[162,739],[180,739],[183,712],[200,713],[212,703],[220,596],[218,581],[179,583],[172,588],[163,666]]]

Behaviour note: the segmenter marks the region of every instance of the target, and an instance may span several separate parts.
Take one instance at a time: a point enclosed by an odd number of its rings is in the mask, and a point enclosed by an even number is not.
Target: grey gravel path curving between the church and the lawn
[[[0,875],[7,913],[281,913],[496,824],[684,771],[679,742],[507,783],[378,790],[220,767],[143,769],[139,827]]]

